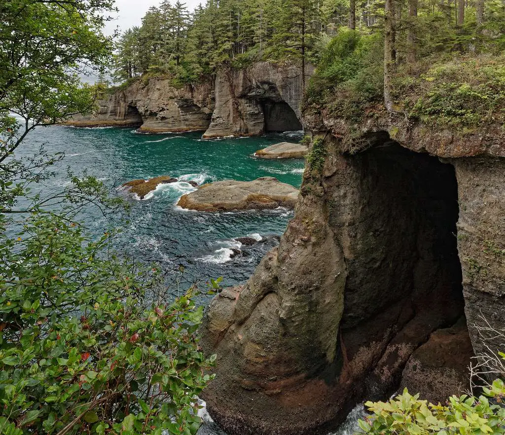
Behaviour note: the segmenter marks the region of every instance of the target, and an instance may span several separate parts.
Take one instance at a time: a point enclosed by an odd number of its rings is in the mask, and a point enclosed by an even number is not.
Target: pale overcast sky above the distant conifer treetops
[[[112,34],[116,27],[125,31],[132,26],[139,26],[147,10],[151,6],[158,6],[160,2],[161,0],[116,0],[116,7],[119,9],[118,17],[106,23],[105,33]],[[205,3],[205,0],[185,0],[185,3],[188,10],[192,11],[198,4]]]

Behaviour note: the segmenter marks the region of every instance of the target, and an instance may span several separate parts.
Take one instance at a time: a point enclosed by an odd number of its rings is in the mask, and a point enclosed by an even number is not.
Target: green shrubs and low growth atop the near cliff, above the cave
[[[383,106],[383,41],[378,34],[343,30],[328,44],[307,91],[304,112],[341,119],[348,133]],[[505,128],[505,55],[438,53],[393,77],[395,110],[430,127],[475,132]]]

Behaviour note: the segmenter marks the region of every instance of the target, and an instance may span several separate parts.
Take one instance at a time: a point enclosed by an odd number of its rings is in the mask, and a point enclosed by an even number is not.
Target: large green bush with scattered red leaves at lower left
[[[2,234],[1,434],[196,432],[196,289],[164,303],[156,270],[106,257],[111,237],[37,212]]]

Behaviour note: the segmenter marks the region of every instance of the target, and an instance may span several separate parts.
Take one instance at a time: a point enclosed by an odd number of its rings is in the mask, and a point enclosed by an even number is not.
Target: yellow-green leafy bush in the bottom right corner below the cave
[[[505,433],[505,385],[496,379],[484,394],[452,396],[447,405],[433,405],[407,389],[389,402],[367,402],[373,413],[360,420],[364,433],[377,435],[498,435]]]

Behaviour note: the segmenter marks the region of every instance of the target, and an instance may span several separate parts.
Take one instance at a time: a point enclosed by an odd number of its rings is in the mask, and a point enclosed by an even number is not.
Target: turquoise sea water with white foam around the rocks
[[[89,207],[82,213],[88,231],[95,236],[110,227],[121,227],[115,248],[124,255],[145,262],[157,261],[170,276],[185,268],[182,284],[224,277],[231,285],[247,279],[263,255],[277,245],[292,211],[244,211],[203,213],[184,211],[175,204],[181,195],[198,184],[223,179],[251,180],[274,176],[299,186],[302,160],[258,160],[252,154],[282,140],[298,141],[301,132],[255,138],[203,140],[201,133],[139,134],[131,128],[37,128],[18,155],[35,154],[43,144],[49,153],[64,152],[56,176],[43,187],[44,194],[61,189],[68,182],[67,168],[74,174],[87,172],[102,180],[112,195],[130,204],[128,214],[102,216]],[[180,182],[161,185],[143,201],[117,189],[136,178],[170,175]],[[241,247],[236,237],[261,239],[252,247]],[[242,256],[230,259],[229,248]]]

